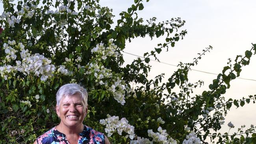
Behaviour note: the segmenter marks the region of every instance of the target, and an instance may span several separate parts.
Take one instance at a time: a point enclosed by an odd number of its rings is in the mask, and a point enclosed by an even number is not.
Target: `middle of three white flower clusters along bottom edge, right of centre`
[[[152,142],[159,142],[161,144],[177,144],[177,141],[169,137],[166,130],[163,130],[162,127],[158,127],[157,133],[154,133],[152,129],[148,129],[148,137],[153,138]]]

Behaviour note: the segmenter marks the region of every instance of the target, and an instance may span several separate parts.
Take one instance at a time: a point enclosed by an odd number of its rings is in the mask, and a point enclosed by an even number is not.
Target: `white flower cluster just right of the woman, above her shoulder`
[[[126,120],[126,118],[121,118],[121,120],[119,120],[118,116],[110,116],[109,114],[107,114],[107,117],[108,118],[105,120],[100,120],[100,124],[104,126],[106,125],[105,131],[108,133],[108,137],[111,137],[111,135],[117,131],[119,135],[122,135],[122,132],[126,132],[130,139],[134,138],[134,126],[128,124],[128,120]]]

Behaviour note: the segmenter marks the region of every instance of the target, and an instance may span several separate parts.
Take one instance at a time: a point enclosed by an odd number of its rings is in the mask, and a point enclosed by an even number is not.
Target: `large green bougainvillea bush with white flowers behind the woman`
[[[148,2],[148,0],[147,0]],[[3,0],[0,16],[0,144],[32,143],[59,124],[55,94],[66,83],[89,92],[84,124],[102,131],[112,144],[255,143],[255,127],[218,133],[232,106],[255,103],[255,95],[225,100],[223,94],[241,67],[249,65],[256,45],[229,61],[209,85],[194,95],[202,81],[189,83],[187,74],[211,46],[191,63],[180,63],[166,83],[164,74],[148,79],[150,59],[186,35],[185,21],[143,20],[142,0],[113,22],[112,9],[99,0]],[[122,50],[136,37],[165,37],[153,51],[123,66]],[[132,87],[136,83],[137,87]],[[174,91],[180,88],[180,92]]]

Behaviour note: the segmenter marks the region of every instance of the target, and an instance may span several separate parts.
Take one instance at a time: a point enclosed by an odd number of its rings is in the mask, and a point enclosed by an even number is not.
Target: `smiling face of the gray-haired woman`
[[[88,110],[88,107],[85,107],[82,101],[80,94],[65,96],[61,99],[59,106],[56,105],[56,112],[62,124],[67,127],[82,124]]]

